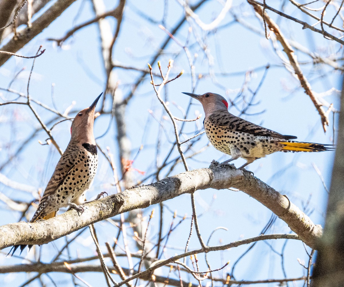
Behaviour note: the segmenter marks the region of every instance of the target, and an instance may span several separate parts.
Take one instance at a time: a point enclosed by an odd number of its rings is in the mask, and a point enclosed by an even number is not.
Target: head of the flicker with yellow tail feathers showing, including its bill
[[[205,93],[203,95],[197,95],[192,93],[183,93],[186,95],[191,96],[192,98],[198,100],[203,105],[203,110],[205,116],[212,114],[215,111],[227,111],[228,110],[228,102],[226,99],[215,93]]]

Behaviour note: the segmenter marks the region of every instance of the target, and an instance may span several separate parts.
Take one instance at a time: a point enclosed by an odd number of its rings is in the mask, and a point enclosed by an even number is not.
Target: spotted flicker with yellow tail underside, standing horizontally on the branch
[[[282,135],[254,123],[248,122],[228,112],[225,98],[215,93],[197,95],[183,93],[198,100],[203,105],[205,133],[211,144],[219,151],[232,156],[222,164],[241,157],[246,163],[244,168],[257,158],[274,152],[322,152],[331,150],[327,144],[291,141],[296,136]]]

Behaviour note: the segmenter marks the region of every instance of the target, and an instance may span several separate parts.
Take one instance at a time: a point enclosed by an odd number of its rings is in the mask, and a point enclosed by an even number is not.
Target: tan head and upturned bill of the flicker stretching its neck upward
[[[74,117],[74,120],[71,126],[71,135],[72,135],[71,139],[72,140],[95,144],[94,135],[93,135],[94,114],[95,114],[97,102],[101,94],[92,103],[92,105],[78,112],[77,115]]]

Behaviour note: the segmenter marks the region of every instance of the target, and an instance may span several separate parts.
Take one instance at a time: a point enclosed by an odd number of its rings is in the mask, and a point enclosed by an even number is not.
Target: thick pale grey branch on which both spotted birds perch
[[[198,189],[230,187],[254,197],[286,222],[305,244],[315,247],[314,241],[322,234],[322,227],[315,225],[286,196],[247,172],[213,162],[209,168],[184,172],[85,204],[85,211],[81,216],[78,216],[77,211],[71,210],[35,223],[19,222],[0,226],[0,249],[17,244],[45,244],[89,224],[181,194]]]

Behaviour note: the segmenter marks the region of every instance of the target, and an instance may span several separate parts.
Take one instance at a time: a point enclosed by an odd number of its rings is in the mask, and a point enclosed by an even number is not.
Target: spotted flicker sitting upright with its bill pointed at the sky
[[[85,192],[97,170],[98,155],[93,124],[96,105],[101,94],[90,107],[78,112],[74,117],[71,140],[58,161],[30,222],[52,218],[58,209],[66,206],[75,208],[80,213],[84,211],[81,205],[85,203]],[[23,251],[26,245],[13,246],[12,255],[19,246]]]

